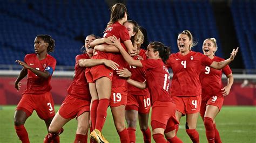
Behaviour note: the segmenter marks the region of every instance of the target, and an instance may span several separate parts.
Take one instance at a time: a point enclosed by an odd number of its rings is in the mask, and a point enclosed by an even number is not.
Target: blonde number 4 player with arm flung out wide
[[[186,132],[193,142],[199,142],[196,131],[198,112],[201,106],[201,84],[199,74],[201,66],[205,65],[215,69],[222,69],[234,60],[238,48],[233,49],[230,58],[225,61],[212,61],[207,56],[191,51],[195,45],[190,31],[185,30],[178,35],[177,45],[179,52],[171,54],[166,66],[172,68],[171,95],[177,105],[176,118],[186,117]],[[176,127],[178,131],[178,126]]]

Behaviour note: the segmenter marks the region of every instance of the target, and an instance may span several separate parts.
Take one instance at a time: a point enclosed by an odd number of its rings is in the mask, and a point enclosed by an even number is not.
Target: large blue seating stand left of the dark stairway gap
[[[32,39],[37,34],[49,34],[56,40],[52,54],[57,65],[72,66],[82,47],[84,35],[102,35],[109,21],[109,8],[103,1],[5,1],[1,2],[3,52],[0,64],[15,64],[25,53],[33,52]],[[188,8],[183,8],[184,3]],[[161,41],[177,52],[178,32],[189,29],[201,52],[203,39],[218,39],[211,4],[208,1],[127,1],[130,19],[147,29],[149,39]],[[203,5],[203,6],[202,6]],[[168,13],[168,15],[166,15]],[[217,51],[222,56],[221,47]]]

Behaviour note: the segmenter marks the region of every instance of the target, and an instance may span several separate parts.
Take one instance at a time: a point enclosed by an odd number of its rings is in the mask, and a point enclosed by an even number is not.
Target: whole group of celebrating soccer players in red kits
[[[214,55],[217,42],[210,38],[203,44],[205,55],[193,52],[193,36],[185,30],[178,35],[179,52],[170,55],[170,48],[157,41],[150,42],[146,51],[140,48],[144,36],[136,22],[127,21],[125,5],[113,5],[103,38],[86,37],[84,53],[76,56],[68,96],[55,115],[50,79],[56,60],[48,54],[53,51],[55,41],[49,35],[38,35],[35,54],[26,55],[24,62],[16,61],[23,69],[15,88],[19,90],[20,81],[28,75],[26,90],[15,112],[19,139],[29,142],[24,123],[36,110],[48,128],[44,142],[59,142],[62,127],[73,118],[78,121],[74,142],[87,142],[89,128],[92,142],[108,142],[102,129],[110,106],[120,142],[136,142],[137,118],[144,142],[151,142],[150,107],[156,142],[182,142],[177,131],[179,120],[185,115],[187,134],[193,142],[199,142],[196,131],[199,112],[208,142],[221,142],[214,118],[233,84],[232,71],[227,65],[234,60],[238,48],[233,49],[227,60],[218,58]],[[168,68],[173,71],[171,84]],[[228,78],[224,88],[222,71]]]

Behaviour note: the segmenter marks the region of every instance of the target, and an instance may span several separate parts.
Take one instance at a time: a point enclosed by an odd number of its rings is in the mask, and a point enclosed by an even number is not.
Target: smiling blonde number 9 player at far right
[[[215,38],[204,40],[204,55],[213,61],[224,61],[224,59],[215,56],[217,49],[218,46]],[[224,88],[222,88],[223,85],[221,83],[222,73],[227,77],[227,85]],[[207,140],[208,142],[221,142],[214,118],[218,115],[223,105],[224,97],[230,93],[234,82],[232,71],[228,65],[222,70],[204,66],[200,74],[200,81],[202,85],[200,115],[204,120]]]

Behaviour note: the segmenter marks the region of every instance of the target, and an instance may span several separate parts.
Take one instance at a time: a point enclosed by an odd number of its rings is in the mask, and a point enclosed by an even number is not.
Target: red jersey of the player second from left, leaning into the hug
[[[80,54],[76,56],[75,76],[68,88],[68,93],[76,98],[90,101],[91,95],[89,91],[89,84],[85,77],[86,67],[79,66],[80,59],[90,59],[90,57],[87,54]]]

